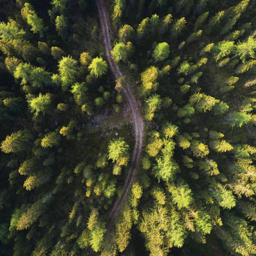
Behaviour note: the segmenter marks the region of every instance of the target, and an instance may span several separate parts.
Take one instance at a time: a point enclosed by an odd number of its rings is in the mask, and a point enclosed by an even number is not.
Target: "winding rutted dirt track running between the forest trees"
[[[103,37],[105,50],[106,50],[106,57],[115,79],[118,79],[118,77],[123,76],[123,74],[120,71],[118,65],[111,58],[110,52],[112,50],[112,46],[111,46],[112,31],[111,31],[109,15],[103,0],[96,0],[96,5],[98,9],[99,22],[100,22],[102,37]],[[110,221],[108,229],[112,227],[120,210],[124,206],[128,197],[128,193],[131,189],[131,186],[136,179],[139,166],[140,166],[142,143],[143,143],[144,121],[142,118],[141,105],[139,101],[136,99],[136,97],[134,96],[132,88],[130,87],[129,84],[126,85],[126,88],[124,88],[123,91],[124,91],[125,100],[129,106],[130,114],[132,118],[132,123],[133,123],[133,128],[135,133],[135,145],[134,145],[132,156],[130,159],[129,170],[125,179],[122,195],[115,200],[113,208],[108,216]]]

